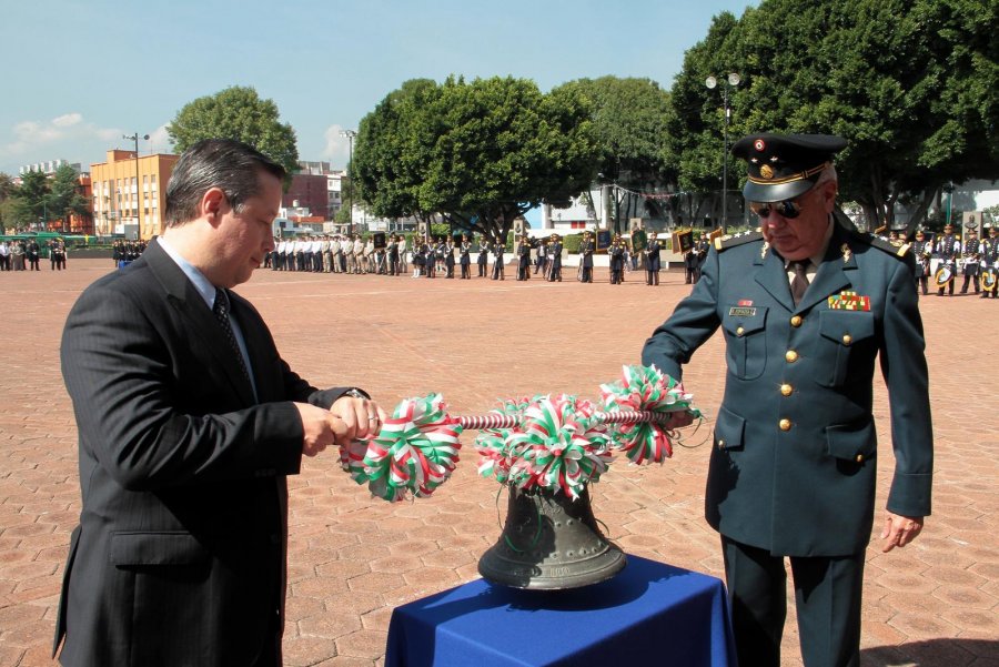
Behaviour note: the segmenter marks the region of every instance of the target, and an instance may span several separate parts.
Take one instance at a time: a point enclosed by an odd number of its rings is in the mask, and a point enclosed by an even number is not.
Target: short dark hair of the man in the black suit
[[[260,172],[278,179],[284,179],[286,173],[283,166],[240,141],[199,141],[184,151],[173,168],[163,213],[167,226],[180,226],[194,220],[201,198],[212,188],[221,189],[239,213],[246,200],[260,193]]]

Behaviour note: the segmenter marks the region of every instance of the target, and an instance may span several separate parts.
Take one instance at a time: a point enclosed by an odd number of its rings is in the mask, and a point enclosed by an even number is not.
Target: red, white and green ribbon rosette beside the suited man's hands
[[[390,502],[428,496],[454,472],[462,425],[445,412],[441,394],[406,398],[377,437],[341,452],[344,469],[372,495]],[[361,451],[364,454],[361,455]]]

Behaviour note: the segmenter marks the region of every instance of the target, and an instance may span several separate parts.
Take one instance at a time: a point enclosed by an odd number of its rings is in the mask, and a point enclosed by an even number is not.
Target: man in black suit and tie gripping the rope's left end
[[[70,312],[83,503],[63,665],[281,665],[286,476],[384,417],[356,388],[293,373],[229,291],[274,247],[283,176],[245,144],[195,144],[170,180],[163,236]]]

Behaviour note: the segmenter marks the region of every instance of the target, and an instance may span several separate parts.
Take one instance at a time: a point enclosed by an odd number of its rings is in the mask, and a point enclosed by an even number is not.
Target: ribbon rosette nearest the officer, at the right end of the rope
[[[687,412],[700,417],[700,411],[690,405],[693,395],[684,391],[684,385],[655,366],[624,366],[622,378],[602,384],[601,394],[608,412]],[[624,452],[632,463],[663,463],[673,456],[675,436],[654,421],[617,424],[612,435],[615,448]]]

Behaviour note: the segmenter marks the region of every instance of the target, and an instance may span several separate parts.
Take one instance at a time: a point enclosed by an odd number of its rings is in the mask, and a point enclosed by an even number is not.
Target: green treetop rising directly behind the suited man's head
[[[178,152],[202,139],[242,141],[292,174],[299,170],[295,131],[279,117],[273,100],[261,100],[251,87],[234,85],[185,104],[167,125],[167,133]]]

